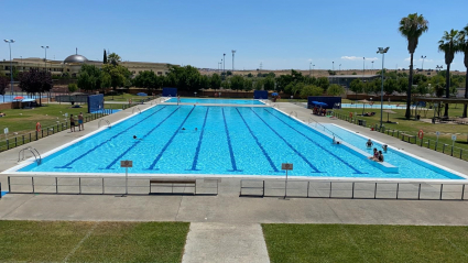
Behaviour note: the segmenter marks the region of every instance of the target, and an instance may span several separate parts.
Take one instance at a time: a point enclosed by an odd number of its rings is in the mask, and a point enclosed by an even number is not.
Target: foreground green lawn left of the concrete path
[[[181,262],[189,223],[0,221],[1,262]]]

